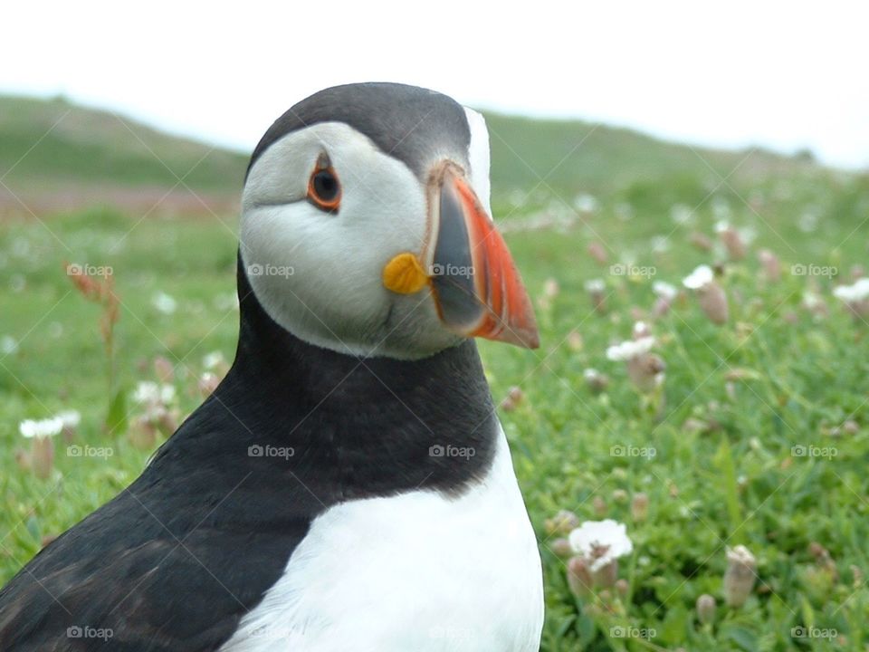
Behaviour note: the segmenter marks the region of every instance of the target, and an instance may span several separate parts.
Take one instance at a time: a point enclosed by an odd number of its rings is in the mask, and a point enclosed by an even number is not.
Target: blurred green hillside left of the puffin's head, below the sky
[[[62,98],[0,96],[0,214],[233,210],[246,157]]]

